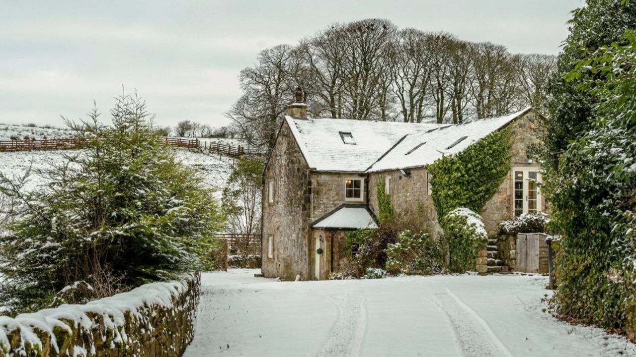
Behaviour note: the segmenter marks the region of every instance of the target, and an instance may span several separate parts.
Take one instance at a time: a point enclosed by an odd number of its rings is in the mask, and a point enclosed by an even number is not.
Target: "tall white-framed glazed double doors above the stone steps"
[[[541,212],[541,192],[537,186],[537,182],[541,182],[539,168],[514,167],[513,182],[515,217],[522,213]]]

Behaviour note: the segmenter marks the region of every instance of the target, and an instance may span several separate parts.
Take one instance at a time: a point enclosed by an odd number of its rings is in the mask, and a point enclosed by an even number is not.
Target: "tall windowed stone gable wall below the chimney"
[[[263,275],[266,278],[294,280],[310,277],[310,195],[309,167],[287,123],[265,168],[263,189]],[[269,182],[273,182],[274,202],[268,200]],[[273,256],[268,255],[269,238]]]

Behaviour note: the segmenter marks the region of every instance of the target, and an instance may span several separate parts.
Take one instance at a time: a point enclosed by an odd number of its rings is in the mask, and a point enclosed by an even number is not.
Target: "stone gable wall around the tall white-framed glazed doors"
[[[530,145],[539,143],[536,131],[540,125],[539,117],[534,112],[529,112],[522,118],[515,120],[511,125],[511,166],[536,167],[538,171],[539,166],[536,163],[528,162],[527,151]],[[508,172],[495,196],[486,203],[481,211],[481,218],[489,237],[497,236],[501,222],[513,218],[513,180],[513,172]],[[545,202],[541,206],[545,207]]]

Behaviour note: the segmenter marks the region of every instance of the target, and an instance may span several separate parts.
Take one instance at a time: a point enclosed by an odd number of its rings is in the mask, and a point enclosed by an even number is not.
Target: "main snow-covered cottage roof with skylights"
[[[378,172],[422,167],[457,154],[530,110],[461,125],[290,116],[286,121],[312,170]]]

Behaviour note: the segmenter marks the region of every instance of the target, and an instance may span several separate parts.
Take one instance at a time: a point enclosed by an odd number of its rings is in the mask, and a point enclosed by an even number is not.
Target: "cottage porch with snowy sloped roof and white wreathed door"
[[[377,218],[367,205],[341,205],[312,223],[310,261],[313,264],[314,280],[329,279],[331,273],[338,273],[357,253],[343,253],[347,242],[347,231],[373,229],[378,227]]]

